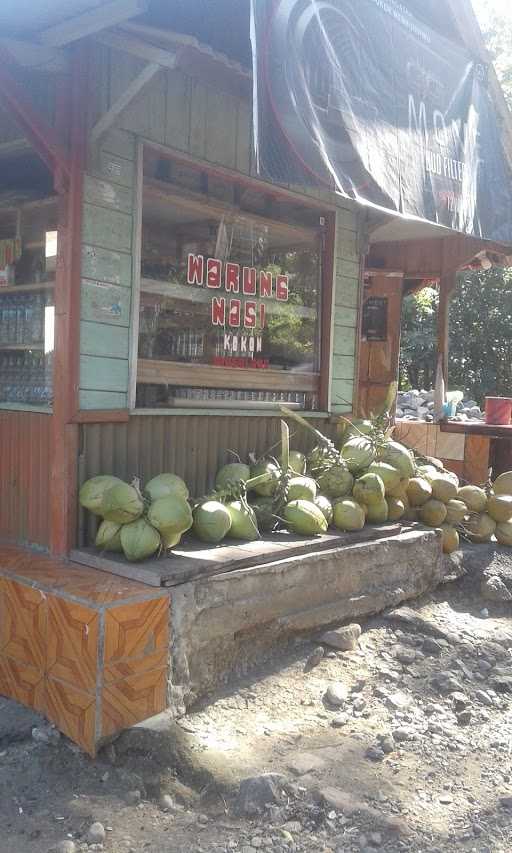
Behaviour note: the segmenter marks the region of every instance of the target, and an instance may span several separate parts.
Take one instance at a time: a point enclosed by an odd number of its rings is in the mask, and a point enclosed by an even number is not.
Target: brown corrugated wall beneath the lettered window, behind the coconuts
[[[335,426],[314,419],[313,426],[334,435]],[[290,425],[291,447],[308,450],[314,439]],[[127,424],[87,424],[82,427],[80,482],[96,474],[115,474],[126,480],[148,481],[162,471],[186,480],[191,494],[211,488],[217,470],[249,453],[264,454],[280,441],[280,420],[269,417],[205,415],[141,415]],[[277,448],[278,450],[278,448]],[[85,519],[82,517],[82,524]],[[81,538],[83,541],[84,530]],[[87,537],[86,537],[87,538]]]

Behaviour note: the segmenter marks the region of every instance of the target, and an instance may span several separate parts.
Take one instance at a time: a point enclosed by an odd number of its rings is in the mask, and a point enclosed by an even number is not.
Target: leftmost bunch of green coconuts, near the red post
[[[101,519],[95,544],[139,562],[176,547],[192,527],[186,483],[176,474],[159,474],[142,491],[140,481],[125,483],[100,475],[80,489],[84,509]]]

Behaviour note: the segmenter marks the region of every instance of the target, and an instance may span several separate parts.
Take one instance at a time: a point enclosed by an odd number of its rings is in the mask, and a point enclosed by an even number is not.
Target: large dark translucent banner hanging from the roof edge
[[[257,172],[512,242],[486,66],[394,0],[252,0]]]

